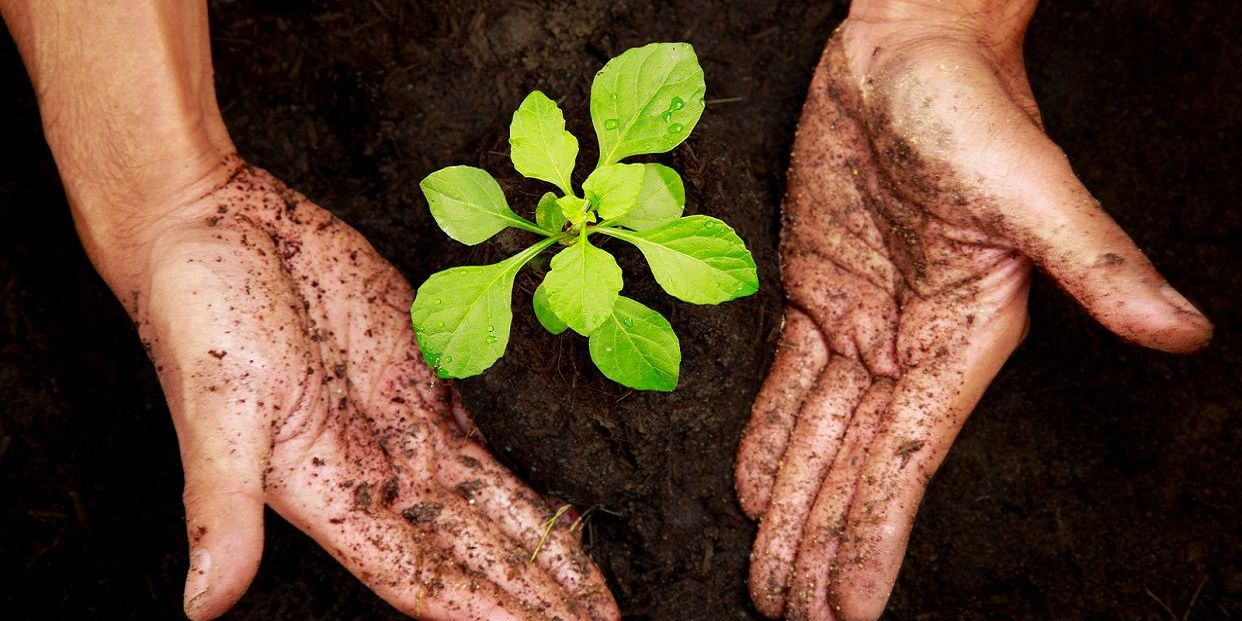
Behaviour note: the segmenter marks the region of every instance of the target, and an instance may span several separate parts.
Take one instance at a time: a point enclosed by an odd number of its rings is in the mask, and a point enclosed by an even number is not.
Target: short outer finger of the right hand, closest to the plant
[[[734,483],[741,509],[753,519],[768,508],[799,406],[827,363],[828,348],[815,322],[797,309],[786,308],[776,358],[738,446]]]

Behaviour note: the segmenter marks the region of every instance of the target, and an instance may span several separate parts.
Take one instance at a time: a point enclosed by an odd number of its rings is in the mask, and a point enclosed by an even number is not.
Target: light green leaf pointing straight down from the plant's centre
[[[607,319],[621,284],[616,260],[591,246],[585,235],[551,258],[543,282],[551,310],[584,337]]]

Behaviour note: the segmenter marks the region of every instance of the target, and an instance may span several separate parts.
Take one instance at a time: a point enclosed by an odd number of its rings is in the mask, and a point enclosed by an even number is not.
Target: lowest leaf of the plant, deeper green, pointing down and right
[[[668,319],[617,298],[612,314],[591,333],[591,360],[610,380],[638,390],[677,388],[682,349]]]

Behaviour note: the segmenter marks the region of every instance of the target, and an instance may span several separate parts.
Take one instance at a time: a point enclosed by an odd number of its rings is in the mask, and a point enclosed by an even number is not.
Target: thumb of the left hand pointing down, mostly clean
[[[190,540],[185,615],[194,621],[216,619],[232,607],[253,581],[263,554],[266,447],[250,440],[256,433],[229,430],[209,412],[179,417],[186,424],[178,425]],[[256,420],[253,412],[235,416]]]

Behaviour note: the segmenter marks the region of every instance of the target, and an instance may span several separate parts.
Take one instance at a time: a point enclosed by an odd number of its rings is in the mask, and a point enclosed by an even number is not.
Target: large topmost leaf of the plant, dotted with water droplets
[[[591,83],[600,165],[681,144],[703,114],[705,92],[689,43],[651,43],[609,61]]]

